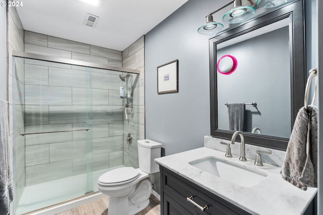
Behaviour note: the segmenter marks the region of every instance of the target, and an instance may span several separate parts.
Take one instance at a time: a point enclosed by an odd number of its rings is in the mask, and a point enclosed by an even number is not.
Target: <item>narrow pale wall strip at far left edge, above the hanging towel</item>
[[[7,101],[7,9],[0,8],[0,99]]]

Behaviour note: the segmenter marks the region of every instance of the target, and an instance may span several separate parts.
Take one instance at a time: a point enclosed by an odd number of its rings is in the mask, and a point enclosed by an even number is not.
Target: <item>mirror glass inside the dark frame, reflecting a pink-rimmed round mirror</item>
[[[216,45],[219,129],[290,137],[289,22],[285,18]]]

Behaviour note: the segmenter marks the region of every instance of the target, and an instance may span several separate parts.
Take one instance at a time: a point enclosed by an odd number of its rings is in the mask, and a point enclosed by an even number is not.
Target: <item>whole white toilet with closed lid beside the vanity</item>
[[[152,188],[148,174],[159,172],[154,159],[160,157],[161,145],[148,139],[138,140],[139,169],[122,167],[98,178],[98,190],[110,197],[108,215],[136,214],[148,206]]]

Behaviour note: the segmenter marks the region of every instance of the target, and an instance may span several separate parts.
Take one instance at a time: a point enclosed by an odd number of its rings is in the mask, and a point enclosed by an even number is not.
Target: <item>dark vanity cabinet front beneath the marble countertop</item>
[[[160,214],[250,214],[163,166],[160,166],[160,178]],[[189,202],[187,198],[191,196],[201,209],[205,205],[207,208],[202,211]]]

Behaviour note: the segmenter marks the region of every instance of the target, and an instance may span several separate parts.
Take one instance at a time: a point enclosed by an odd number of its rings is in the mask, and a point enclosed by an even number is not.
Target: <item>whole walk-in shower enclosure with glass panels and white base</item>
[[[15,214],[94,193],[107,170],[138,168],[139,71],[14,55]]]

